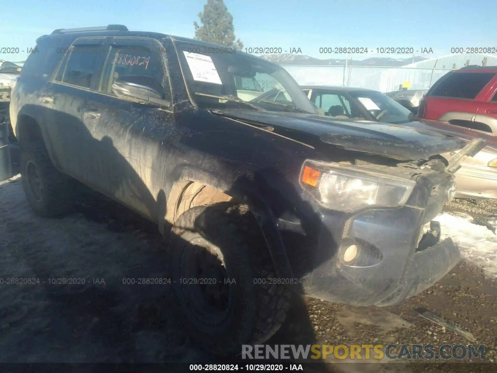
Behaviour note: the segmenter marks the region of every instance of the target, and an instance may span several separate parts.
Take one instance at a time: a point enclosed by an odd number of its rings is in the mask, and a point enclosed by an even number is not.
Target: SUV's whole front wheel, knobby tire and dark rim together
[[[193,207],[172,233],[173,284],[192,339],[226,356],[276,333],[291,293],[274,280],[267,247],[247,208],[230,202]]]

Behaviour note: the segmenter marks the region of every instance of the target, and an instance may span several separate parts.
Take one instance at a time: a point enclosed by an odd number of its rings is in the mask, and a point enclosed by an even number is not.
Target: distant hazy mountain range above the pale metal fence
[[[258,56],[278,65],[317,65],[317,66],[345,66],[345,59],[329,58],[321,60],[302,54],[280,53],[264,54]],[[410,58],[370,57],[365,60],[347,59],[347,66],[385,66],[398,67],[427,60],[427,58],[415,56]]]

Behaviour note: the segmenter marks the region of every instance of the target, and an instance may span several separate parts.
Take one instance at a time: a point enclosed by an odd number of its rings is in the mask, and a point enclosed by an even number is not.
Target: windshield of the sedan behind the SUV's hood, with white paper
[[[350,92],[350,96],[357,99],[358,103],[362,104],[380,122],[399,124],[414,119],[414,114],[410,110],[386,94],[375,91],[357,91]]]

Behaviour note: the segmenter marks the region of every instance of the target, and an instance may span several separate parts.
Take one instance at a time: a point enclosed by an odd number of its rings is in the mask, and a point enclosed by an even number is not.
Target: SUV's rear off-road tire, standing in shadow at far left
[[[21,183],[29,205],[43,217],[56,217],[70,212],[73,208],[73,179],[54,167],[43,143],[30,141],[27,145],[21,144],[20,147],[20,169]],[[37,169],[43,187],[41,198],[36,198],[29,185],[28,165]]]

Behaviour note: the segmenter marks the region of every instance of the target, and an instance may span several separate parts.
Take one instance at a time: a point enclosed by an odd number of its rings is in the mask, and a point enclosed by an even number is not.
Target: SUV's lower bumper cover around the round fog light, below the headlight
[[[439,231],[423,232],[422,218],[421,210],[408,206],[366,211],[345,222],[338,242],[337,232],[324,229],[314,269],[303,277],[304,293],[355,306],[389,306],[434,285],[460,253],[452,239],[439,240]],[[325,226],[333,221],[336,216],[323,216]]]

